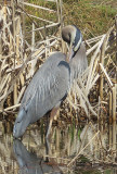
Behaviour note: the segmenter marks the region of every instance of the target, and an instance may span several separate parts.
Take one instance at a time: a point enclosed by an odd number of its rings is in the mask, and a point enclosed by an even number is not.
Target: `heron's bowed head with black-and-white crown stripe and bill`
[[[62,38],[69,44],[74,57],[82,42],[81,32],[75,25],[68,25],[62,29]]]

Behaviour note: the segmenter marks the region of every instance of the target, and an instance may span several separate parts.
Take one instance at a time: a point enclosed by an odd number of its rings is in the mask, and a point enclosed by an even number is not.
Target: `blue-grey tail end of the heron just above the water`
[[[21,108],[16,121],[13,127],[13,136],[15,138],[20,138],[25,133],[27,126],[29,125],[29,116],[26,111]]]

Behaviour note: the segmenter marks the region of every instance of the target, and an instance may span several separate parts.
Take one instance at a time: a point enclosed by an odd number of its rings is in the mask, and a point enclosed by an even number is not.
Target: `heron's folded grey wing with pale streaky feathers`
[[[35,74],[22,100],[22,107],[42,116],[66,95],[69,88],[69,65],[65,54],[55,53]]]

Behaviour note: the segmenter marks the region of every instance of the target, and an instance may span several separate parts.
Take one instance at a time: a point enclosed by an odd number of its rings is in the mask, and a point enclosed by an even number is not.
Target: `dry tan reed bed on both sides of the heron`
[[[55,3],[54,1],[52,3]],[[67,46],[61,39],[62,2],[57,1],[54,10],[21,1],[20,4],[8,3],[0,10],[0,112],[3,114],[16,113],[23,94],[35,72],[44,60],[54,51],[67,51]],[[35,20],[25,12],[25,5],[42,9],[49,13],[55,13],[57,22],[38,18],[44,22],[44,26],[36,28]],[[20,11],[21,10],[21,11]],[[22,14],[23,13],[23,14]],[[25,17],[30,17],[31,30],[26,30]],[[51,24],[50,24],[51,23]],[[73,115],[73,110],[80,111],[88,117],[91,115],[101,119],[102,110],[106,110],[113,120],[116,120],[116,24],[106,34],[86,40],[88,70],[75,82],[69,97],[64,102]],[[60,27],[58,27],[60,26]],[[43,39],[42,32],[48,28],[57,30]],[[54,30],[55,30],[54,29]],[[36,33],[39,32],[40,41],[36,41]],[[30,40],[25,34],[30,35]],[[112,49],[112,50],[110,50]],[[105,90],[107,92],[105,92]],[[93,94],[96,94],[94,98]],[[106,97],[104,95],[107,94]],[[92,98],[92,99],[91,99]],[[91,101],[92,100],[92,101]],[[96,102],[94,100],[98,100]],[[63,104],[63,105],[64,105]],[[104,105],[104,107],[103,107]],[[106,105],[106,107],[105,107]],[[108,110],[109,108],[109,110]],[[75,114],[76,115],[76,114]]]

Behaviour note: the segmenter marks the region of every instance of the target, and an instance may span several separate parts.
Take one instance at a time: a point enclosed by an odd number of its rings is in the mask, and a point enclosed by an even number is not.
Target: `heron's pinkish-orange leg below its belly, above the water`
[[[58,110],[58,107],[53,108],[51,113],[50,113],[50,123],[49,123],[49,127],[48,127],[48,132],[47,132],[47,137],[46,138],[49,138],[49,135],[50,135],[50,132],[51,132],[52,122],[53,122],[53,119],[54,119],[57,110]]]

